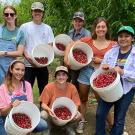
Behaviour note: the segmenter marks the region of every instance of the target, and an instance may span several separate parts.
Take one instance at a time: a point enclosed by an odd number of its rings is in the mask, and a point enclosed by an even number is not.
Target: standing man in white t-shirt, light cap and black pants
[[[47,67],[36,67],[31,59],[31,53],[35,46],[40,44],[51,45],[54,35],[51,27],[42,22],[44,17],[44,5],[42,3],[34,2],[31,5],[31,13],[32,21],[22,24],[20,27],[20,31],[24,33],[25,37],[25,80],[29,81],[33,86],[37,77],[38,88],[41,94],[44,86],[48,83],[48,69]]]

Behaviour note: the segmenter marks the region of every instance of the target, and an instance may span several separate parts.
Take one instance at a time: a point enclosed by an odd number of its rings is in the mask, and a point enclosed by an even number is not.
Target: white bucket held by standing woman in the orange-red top
[[[79,63],[78,61],[75,60],[73,56],[74,49],[80,49],[87,55],[87,59],[88,59],[87,63]],[[91,47],[84,42],[77,42],[73,47],[71,47],[70,52],[68,54],[70,68],[73,70],[79,70],[82,67],[88,65],[92,61],[92,57],[93,57],[93,51]]]

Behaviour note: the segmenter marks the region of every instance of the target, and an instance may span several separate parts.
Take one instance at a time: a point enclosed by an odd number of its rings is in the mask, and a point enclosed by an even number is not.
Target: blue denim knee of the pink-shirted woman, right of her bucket
[[[48,129],[48,124],[44,119],[40,119],[39,124],[36,126],[36,128],[33,130],[33,132],[42,132]]]

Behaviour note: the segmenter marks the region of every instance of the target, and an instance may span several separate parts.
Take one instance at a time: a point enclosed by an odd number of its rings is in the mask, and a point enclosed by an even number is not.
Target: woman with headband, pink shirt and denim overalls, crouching
[[[25,65],[22,61],[13,61],[8,69],[4,83],[0,86],[0,133],[7,135],[4,123],[12,107],[20,104],[21,100],[33,102],[32,88],[29,82],[24,81]],[[47,129],[47,123],[41,119],[35,132]]]

